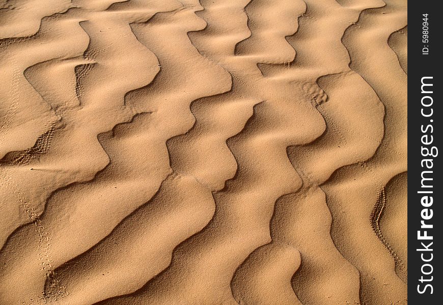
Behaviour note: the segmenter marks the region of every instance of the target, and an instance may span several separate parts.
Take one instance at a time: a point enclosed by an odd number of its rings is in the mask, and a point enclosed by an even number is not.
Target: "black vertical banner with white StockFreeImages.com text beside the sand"
[[[441,304],[441,35],[438,1],[408,2],[408,300]]]

